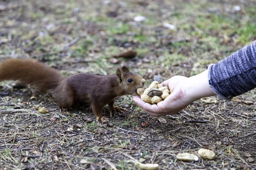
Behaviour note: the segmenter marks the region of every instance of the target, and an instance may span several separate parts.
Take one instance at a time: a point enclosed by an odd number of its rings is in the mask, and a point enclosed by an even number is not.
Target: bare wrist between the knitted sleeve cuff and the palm
[[[208,72],[206,71],[189,77],[188,83],[186,85],[186,95],[190,97],[191,99],[198,100],[202,97],[209,97],[209,96],[215,96],[216,94],[212,91],[212,88],[209,85],[208,81]]]

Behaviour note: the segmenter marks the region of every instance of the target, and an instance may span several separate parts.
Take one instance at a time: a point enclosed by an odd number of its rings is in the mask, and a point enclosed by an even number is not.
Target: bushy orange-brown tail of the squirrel
[[[47,91],[57,87],[63,79],[57,70],[34,59],[7,59],[0,63],[0,81],[19,80]]]

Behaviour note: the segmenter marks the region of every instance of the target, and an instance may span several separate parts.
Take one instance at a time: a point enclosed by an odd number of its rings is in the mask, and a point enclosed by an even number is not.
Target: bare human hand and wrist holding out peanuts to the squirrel
[[[134,102],[151,116],[165,116],[178,113],[190,103],[215,93],[209,86],[208,70],[193,77],[174,76],[161,83],[170,88],[171,94],[157,105],[150,105],[134,96]]]

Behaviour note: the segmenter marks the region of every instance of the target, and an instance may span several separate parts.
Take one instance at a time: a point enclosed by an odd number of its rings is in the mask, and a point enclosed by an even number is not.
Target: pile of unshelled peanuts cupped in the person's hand
[[[161,84],[158,84],[157,81],[151,83],[151,85],[145,89],[138,88],[137,94],[140,95],[140,98],[151,105],[157,104],[162,100],[166,99],[169,94],[171,94],[169,87],[163,87]]]

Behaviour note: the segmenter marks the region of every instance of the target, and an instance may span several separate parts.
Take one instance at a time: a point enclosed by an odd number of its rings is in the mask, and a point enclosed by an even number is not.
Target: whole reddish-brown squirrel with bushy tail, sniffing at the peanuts
[[[145,79],[131,73],[127,66],[116,68],[116,75],[98,76],[79,73],[63,77],[57,70],[34,59],[7,59],[0,63],[0,82],[18,80],[23,85],[35,85],[39,91],[53,90],[59,109],[72,108],[79,102],[90,102],[96,120],[108,122],[102,116],[102,108],[108,104],[116,113],[127,111],[115,107],[114,100],[122,95],[138,95],[137,88],[145,85]]]

